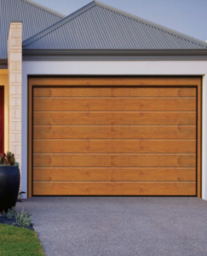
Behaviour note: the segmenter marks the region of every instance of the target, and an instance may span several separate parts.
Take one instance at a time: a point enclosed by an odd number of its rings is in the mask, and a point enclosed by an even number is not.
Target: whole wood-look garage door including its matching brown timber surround
[[[32,195],[198,195],[200,79],[31,79]]]

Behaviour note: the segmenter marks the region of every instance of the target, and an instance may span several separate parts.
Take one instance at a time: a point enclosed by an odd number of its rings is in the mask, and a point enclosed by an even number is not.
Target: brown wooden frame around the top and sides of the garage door
[[[198,91],[198,126],[197,126],[197,197],[202,197],[202,79],[200,77],[137,77],[137,76],[63,76],[29,77],[27,96],[27,191],[32,197],[32,90],[34,86],[196,86]]]

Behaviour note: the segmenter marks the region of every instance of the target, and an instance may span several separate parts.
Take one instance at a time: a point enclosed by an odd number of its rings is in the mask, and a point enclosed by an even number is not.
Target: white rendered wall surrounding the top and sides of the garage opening
[[[207,61],[23,61],[22,64],[22,190],[27,183],[27,76],[28,75],[140,75],[203,77],[202,198],[207,200]]]

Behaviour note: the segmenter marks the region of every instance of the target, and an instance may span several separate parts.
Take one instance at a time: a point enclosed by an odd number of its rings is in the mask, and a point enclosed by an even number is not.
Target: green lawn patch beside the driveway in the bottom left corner
[[[43,256],[37,233],[25,228],[0,224],[1,256]]]

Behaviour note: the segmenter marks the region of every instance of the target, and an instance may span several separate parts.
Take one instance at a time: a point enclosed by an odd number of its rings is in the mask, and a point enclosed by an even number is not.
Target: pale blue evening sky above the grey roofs
[[[70,15],[91,0],[32,0]],[[207,40],[207,0],[101,0],[129,14],[166,26],[190,37]]]

